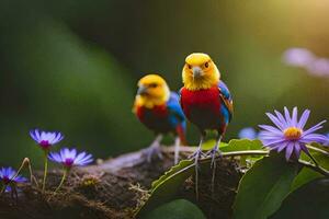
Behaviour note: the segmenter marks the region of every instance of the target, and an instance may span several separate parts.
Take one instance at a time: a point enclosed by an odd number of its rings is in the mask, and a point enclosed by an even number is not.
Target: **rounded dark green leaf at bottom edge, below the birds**
[[[143,219],[206,219],[200,208],[185,199],[172,200],[146,214]]]

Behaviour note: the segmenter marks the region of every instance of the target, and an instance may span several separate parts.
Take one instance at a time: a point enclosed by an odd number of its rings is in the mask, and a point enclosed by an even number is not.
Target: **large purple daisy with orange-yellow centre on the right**
[[[276,126],[260,125],[263,130],[260,132],[260,140],[270,150],[276,150],[281,152],[285,150],[285,158],[290,160],[293,152],[295,158],[298,159],[300,151],[309,153],[306,143],[318,142],[325,143],[328,141],[328,137],[320,134],[315,134],[316,130],[322,128],[322,124],[326,120],[318,123],[309,129],[304,129],[305,124],[309,117],[309,110],[303,112],[302,117],[297,118],[297,107],[294,107],[291,116],[288,110],[284,107],[284,116],[274,111],[274,114],[266,113],[269,118]]]

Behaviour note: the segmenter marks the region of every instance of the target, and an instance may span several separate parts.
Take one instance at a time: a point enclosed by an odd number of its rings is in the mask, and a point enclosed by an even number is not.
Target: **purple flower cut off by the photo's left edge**
[[[16,171],[12,168],[1,168],[0,169],[0,183],[7,186],[5,192],[10,192],[11,188],[8,185],[15,185],[18,183],[25,183],[27,178],[16,175]],[[15,177],[14,177],[15,176]]]

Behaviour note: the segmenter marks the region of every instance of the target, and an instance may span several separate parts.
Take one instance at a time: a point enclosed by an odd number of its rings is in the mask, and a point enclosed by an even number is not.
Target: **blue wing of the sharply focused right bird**
[[[227,88],[227,85],[220,80],[218,83],[218,89],[220,92],[220,99],[223,103],[225,104],[224,108],[222,108],[222,112],[224,113],[224,116],[228,122],[231,120],[232,113],[234,113],[234,106],[232,106],[232,96]]]

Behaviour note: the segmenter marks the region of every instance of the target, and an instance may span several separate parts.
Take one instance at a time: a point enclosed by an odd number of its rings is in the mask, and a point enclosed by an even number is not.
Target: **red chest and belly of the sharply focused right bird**
[[[216,128],[220,125],[219,89],[181,91],[181,106],[185,116],[201,128]]]

